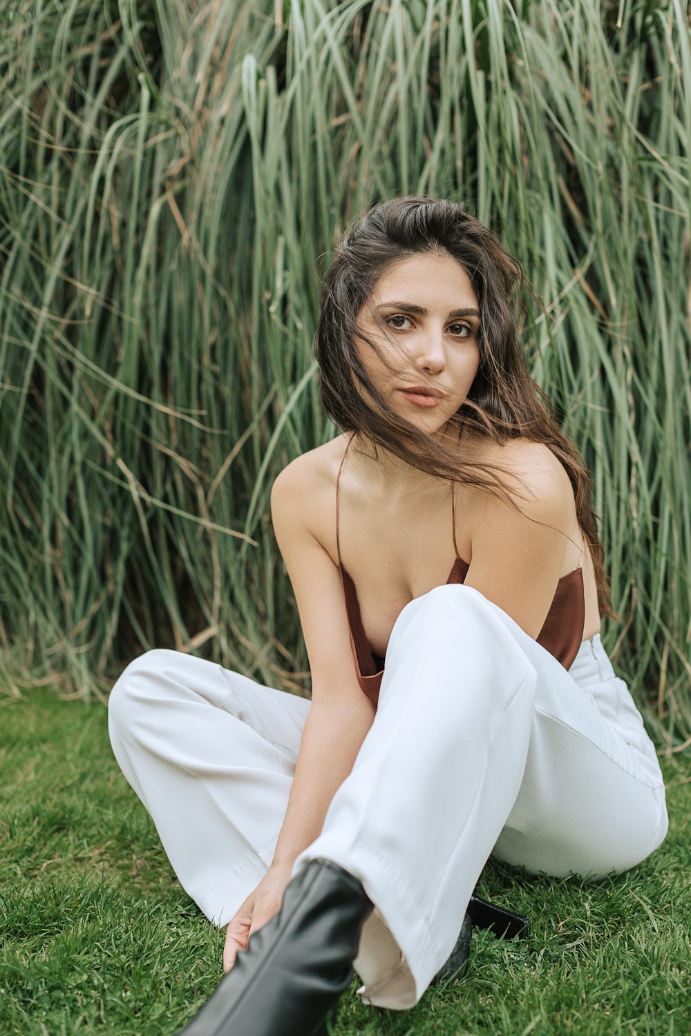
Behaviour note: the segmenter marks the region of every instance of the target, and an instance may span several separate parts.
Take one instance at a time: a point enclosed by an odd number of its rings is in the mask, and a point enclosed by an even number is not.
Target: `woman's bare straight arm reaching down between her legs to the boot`
[[[271,517],[300,616],[312,706],[271,866],[228,926],[226,971],[250,934],[279,910],[292,865],[320,833],[329,803],[374,719],[374,707],[355,678],[341,577],[311,527],[311,518],[319,513],[320,490],[309,457],[293,461],[276,480]],[[325,488],[327,507],[333,489],[328,494]]]

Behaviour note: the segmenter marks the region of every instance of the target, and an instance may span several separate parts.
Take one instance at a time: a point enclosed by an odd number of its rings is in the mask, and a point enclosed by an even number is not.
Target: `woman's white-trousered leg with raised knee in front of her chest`
[[[601,876],[662,841],[655,751],[602,649],[588,670],[588,645],[579,683],[470,587],[403,609],[375,721],[294,871],[325,858],[363,883],[377,910],[355,968],[373,1003],[416,1003],[495,846],[532,870]]]

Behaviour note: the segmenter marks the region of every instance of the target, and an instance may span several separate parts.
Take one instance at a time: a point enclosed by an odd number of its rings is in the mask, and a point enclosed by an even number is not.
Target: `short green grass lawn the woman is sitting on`
[[[335,1036],[691,1032],[691,760],[663,759],[670,831],[587,885],[490,863],[480,894],[527,914],[522,943],[476,932],[464,978],[411,1011],[356,982]],[[100,704],[0,707],[0,1034],[169,1036],[221,977],[223,936],[177,884],[113,759]]]

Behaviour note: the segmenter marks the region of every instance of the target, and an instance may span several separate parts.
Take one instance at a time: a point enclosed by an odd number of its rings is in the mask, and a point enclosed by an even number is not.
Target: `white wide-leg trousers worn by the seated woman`
[[[309,708],[163,650],[113,689],[115,756],[219,926],[271,862]],[[600,636],[567,671],[482,594],[451,584],[397,620],[372,727],[294,873],[324,857],[362,881],[376,910],[361,994],[405,1008],[453,949],[490,854],[597,879],[666,831],[655,748]]]

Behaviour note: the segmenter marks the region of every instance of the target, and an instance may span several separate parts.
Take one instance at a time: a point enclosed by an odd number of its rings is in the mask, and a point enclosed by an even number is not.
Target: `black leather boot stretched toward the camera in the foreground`
[[[356,877],[312,860],[178,1036],[326,1036],[372,909]]]

